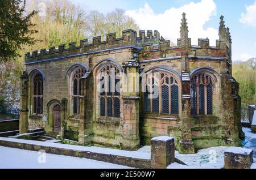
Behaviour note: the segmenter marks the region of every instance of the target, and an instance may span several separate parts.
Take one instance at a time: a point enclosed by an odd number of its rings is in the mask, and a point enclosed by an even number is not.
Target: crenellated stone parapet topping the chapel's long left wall
[[[160,37],[160,33],[155,30],[148,30],[147,36],[145,31],[139,31],[139,36],[137,37],[137,32],[133,29],[127,29],[122,31],[122,37],[117,38],[116,33],[110,33],[106,35],[106,41],[101,41],[101,36],[93,37],[92,44],[88,44],[88,39],[81,40],[79,46],[76,46],[76,42],[69,42],[68,48],[65,45],[59,45],[58,48],[51,47],[47,49],[41,49],[40,52],[35,50],[25,54],[25,62],[40,61],[43,59],[72,55],[85,52],[96,52],[98,50],[118,48],[121,46],[135,46],[142,47],[145,44],[159,44],[160,41],[164,41],[163,37]]]

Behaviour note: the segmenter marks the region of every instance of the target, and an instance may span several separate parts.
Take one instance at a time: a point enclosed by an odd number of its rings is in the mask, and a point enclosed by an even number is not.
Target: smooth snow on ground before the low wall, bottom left
[[[108,162],[89,160],[86,158],[70,157],[64,155],[46,154],[46,163],[42,154],[36,151],[7,148],[0,146],[0,169],[127,169],[127,166],[111,164]],[[42,162],[42,161],[41,161]]]

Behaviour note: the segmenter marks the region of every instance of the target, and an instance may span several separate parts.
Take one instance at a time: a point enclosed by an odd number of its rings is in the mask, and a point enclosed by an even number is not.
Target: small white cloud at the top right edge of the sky
[[[242,13],[242,18],[239,21],[243,24],[256,27],[256,1],[254,5],[246,7],[246,12]]]

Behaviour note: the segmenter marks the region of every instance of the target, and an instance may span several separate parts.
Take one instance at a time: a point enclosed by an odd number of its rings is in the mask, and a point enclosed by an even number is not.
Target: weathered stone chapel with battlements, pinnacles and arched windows
[[[78,132],[80,145],[130,150],[149,145],[155,136],[175,137],[181,153],[216,145],[238,146],[243,136],[241,98],[232,78],[232,40],[223,16],[219,36],[215,47],[209,46],[208,38],[191,45],[183,14],[174,47],[158,31],[147,31],[147,35],[140,31],[137,37],[129,29],[121,38],[112,33],[106,41],[94,37],[92,44],[82,40],[80,46],[71,42],[67,49],[60,45],[27,53],[26,72],[21,77],[20,132],[43,127],[47,133],[60,129],[64,137],[72,130]],[[134,75],[121,83],[120,93],[100,95],[97,75],[108,67]],[[161,81],[166,85],[159,87],[159,99],[145,98],[137,72],[163,75]],[[40,83],[34,82],[36,74],[40,74]],[[133,91],[123,91],[129,87]],[[57,105],[61,116],[56,116]],[[35,108],[41,106],[43,113],[36,113]]]

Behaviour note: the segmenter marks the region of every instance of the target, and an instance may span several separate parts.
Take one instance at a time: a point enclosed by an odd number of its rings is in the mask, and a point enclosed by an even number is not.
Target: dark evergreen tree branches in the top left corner
[[[18,49],[35,42],[35,39],[31,38],[31,34],[36,33],[31,30],[34,26],[31,18],[36,11],[26,14],[25,4],[26,1],[22,0],[0,1],[0,62],[20,55],[17,53]]]

